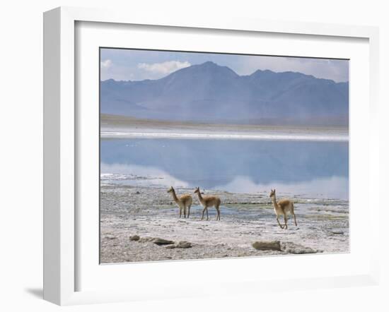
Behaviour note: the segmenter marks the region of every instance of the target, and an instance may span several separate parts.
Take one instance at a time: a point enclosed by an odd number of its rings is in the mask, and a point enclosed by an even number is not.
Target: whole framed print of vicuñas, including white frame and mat
[[[375,283],[376,28],[165,18],[45,13],[45,299]]]

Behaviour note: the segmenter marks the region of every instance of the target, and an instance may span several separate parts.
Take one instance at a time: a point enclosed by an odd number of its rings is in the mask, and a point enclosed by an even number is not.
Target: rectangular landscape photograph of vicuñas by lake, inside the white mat
[[[349,59],[99,54],[100,264],[349,253]]]

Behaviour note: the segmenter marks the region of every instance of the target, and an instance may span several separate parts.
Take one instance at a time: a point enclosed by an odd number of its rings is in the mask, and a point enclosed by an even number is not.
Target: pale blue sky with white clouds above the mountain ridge
[[[101,80],[158,79],[180,68],[205,61],[228,66],[238,75],[269,69],[276,72],[299,71],[336,82],[349,80],[349,61],[344,60],[130,49],[101,49],[100,52]]]

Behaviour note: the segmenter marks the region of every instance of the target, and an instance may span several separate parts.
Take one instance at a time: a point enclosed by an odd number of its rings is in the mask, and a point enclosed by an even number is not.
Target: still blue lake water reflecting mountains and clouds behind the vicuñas
[[[102,184],[348,199],[347,142],[118,138],[100,142]]]

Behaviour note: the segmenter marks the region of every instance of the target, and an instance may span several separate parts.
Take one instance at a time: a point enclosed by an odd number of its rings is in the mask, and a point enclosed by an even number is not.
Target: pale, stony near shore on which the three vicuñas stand
[[[221,220],[209,209],[210,220],[201,220],[202,208],[192,189],[190,218],[180,219],[166,188],[154,186],[101,186],[100,262],[125,263],[156,260],[338,253],[349,251],[349,203],[330,198],[293,198],[298,226],[289,218],[281,229],[267,193],[241,194],[208,191],[221,198]],[[277,194],[283,198],[286,194]],[[282,223],[282,222],[281,222]],[[139,236],[132,241],[131,236]],[[174,241],[161,245],[153,239]],[[190,248],[172,248],[180,241]],[[279,241],[279,251],[259,251],[255,241]],[[170,247],[168,247],[170,246]]]

